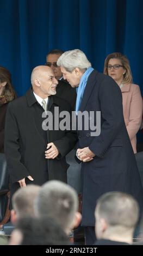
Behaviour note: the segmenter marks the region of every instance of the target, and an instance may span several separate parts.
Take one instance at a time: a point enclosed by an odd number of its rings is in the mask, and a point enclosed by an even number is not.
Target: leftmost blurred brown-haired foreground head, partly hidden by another
[[[12,202],[17,218],[34,216],[34,200],[39,190],[38,185],[27,185],[14,193]]]

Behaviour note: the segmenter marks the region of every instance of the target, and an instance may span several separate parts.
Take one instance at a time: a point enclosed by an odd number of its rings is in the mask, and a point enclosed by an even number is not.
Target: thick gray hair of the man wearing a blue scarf
[[[63,66],[68,72],[72,72],[75,68],[85,72],[86,69],[90,68],[91,63],[86,58],[84,52],[76,49],[64,52],[58,58],[57,65]]]

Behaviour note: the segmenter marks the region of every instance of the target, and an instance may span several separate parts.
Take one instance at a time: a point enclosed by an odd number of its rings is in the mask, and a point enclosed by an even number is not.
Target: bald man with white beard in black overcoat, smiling
[[[42,185],[52,179],[66,182],[69,166],[65,156],[77,142],[75,131],[54,128],[54,121],[58,120],[55,107],[60,115],[62,111],[71,114],[71,106],[54,96],[58,81],[52,69],[37,66],[32,71],[31,82],[32,88],[26,95],[9,104],[5,121],[11,197],[27,184]]]

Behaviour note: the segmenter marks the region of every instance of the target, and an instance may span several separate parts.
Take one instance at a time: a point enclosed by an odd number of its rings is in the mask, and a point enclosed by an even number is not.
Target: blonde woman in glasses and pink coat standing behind
[[[136,133],[142,120],[142,97],[139,86],[132,83],[129,60],[119,52],[109,54],[105,59],[104,74],[112,77],[121,89],[123,117],[133,151],[136,153]]]

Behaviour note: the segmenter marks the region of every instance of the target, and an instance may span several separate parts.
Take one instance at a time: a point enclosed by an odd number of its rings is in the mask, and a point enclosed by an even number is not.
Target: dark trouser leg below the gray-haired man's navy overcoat
[[[96,241],[95,227],[85,227],[85,245],[94,245]]]

